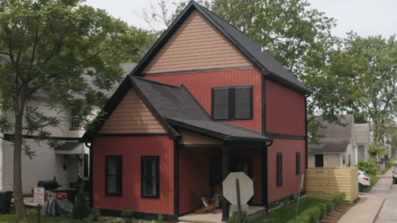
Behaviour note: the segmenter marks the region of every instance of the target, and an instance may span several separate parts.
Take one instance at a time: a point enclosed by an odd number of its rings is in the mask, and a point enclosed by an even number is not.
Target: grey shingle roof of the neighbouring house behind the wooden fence
[[[328,121],[320,122],[317,133],[323,137],[320,138],[319,144],[308,142],[308,153],[342,153],[346,151],[352,137],[354,118],[353,115],[344,115],[339,120],[345,126]]]

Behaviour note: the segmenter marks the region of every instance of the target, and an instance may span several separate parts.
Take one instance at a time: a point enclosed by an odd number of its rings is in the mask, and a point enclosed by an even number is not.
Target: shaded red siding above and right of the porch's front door
[[[232,165],[236,164],[237,160],[252,161],[252,178],[253,178],[253,197],[252,204],[262,204],[262,161],[261,149],[257,148],[236,148],[231,152]],[[233,170],[233,166],[231,168]]]

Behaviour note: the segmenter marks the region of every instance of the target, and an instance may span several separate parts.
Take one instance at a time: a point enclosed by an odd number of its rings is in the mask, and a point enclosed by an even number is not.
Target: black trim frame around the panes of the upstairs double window
[[[236,119],[235,118],[235,90],[248,88],[250,90],[250,114],[249,118]],[[229,118],[228,119],[214,119],[214,96],[215,91],[218,90],[229,90]],[[252,120],[253,119],[253,85],[236,85],[236,86],[221,86],[213,87],[211,92],[211,119],[216,121],[226,121],[226,120]]]

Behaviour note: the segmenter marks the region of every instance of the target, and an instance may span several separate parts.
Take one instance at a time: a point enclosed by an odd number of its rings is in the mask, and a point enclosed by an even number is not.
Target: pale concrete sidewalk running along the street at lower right
[[[360,200],[351,207],[346,214],[339,219],[338,223],[373,223],[378,215],[387,193],[392,185],[393,166],[372,187],[371,191],[359,194]]]

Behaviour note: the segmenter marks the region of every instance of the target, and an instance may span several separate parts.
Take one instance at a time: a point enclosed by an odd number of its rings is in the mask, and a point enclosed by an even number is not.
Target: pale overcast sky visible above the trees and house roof
[[[144,8],[150,9],[150,2],[156,4],[157,0],[87,0],[86,4],[105,9],[112,16],[121,18],[130,25],[149,29],[149,25],[135,12],[140,14]],[[172,2],[178,0],[169,0],[170,7]],[[397,0],[308,0],[308,2],[311,7],[337,20],[337,26],[333,30],[336,36],[345,37],[351,30],[361,36],[382,35],[383,37],[389,37],[397,32]]]

